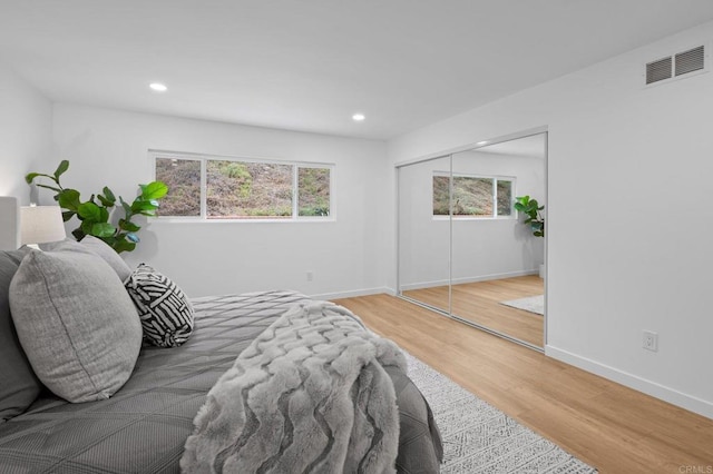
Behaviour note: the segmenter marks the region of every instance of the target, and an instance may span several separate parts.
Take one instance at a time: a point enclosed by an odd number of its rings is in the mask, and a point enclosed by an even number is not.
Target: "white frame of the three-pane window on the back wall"
[[[157,159],[183,159],[192,161],[201,161],[201,215],[199,216],[157,216],[155,219],[162,221],[184,221],[184,223],[305,223],[305,221],[334,221],[336,220],[335,205],[334,205],[334,175],[336,165],[333,162],[315,162],[315,161],[293,161],[293,160],[279,160],[270,158],[254,158],[254,157],[234,157],[234,156],[218,156],[207,154],[192,154],[182,151],[163,151],[163,150],[149,150],[149,160],[152,166],[152,174],[154,180],[156,180],[156,160]],[[262,162],[267,165],[289,165],[292,166],[292,216],[281,218],[234,218],[234,219],[215,219],[208,217],[207,211],[207,162],[208,161],[237,161],[237,162]],[[329,216],[300,216],[300,203],[299,199],[299,175],[300,168],[320,168],[330,170],[330,214]]]

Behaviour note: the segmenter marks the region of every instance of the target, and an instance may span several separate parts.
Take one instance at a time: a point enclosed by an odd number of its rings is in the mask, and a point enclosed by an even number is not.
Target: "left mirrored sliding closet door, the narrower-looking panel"
[[[450,313],[450,156],[398,176],[399,293]]]

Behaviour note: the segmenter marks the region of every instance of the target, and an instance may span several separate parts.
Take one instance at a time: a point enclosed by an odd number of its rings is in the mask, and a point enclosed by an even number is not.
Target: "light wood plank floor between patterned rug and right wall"
[[[335,303],[600,473],[713,472],[713,419],[393,296]]]

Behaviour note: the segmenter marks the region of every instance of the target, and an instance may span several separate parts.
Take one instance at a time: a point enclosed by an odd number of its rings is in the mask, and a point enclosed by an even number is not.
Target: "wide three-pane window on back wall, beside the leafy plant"
[[[158,215],[204,219],[331,216],[333,165],[153,154],[168,186]]]

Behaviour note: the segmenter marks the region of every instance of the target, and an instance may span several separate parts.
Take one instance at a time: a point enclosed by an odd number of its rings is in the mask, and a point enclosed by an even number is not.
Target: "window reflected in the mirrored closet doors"
[[[514,177],[471,175],[453,175],[451,181],[448,172],[436,171],[433,216],[449,216],[452,210],[453,217],[511,217],[514,184]]]

